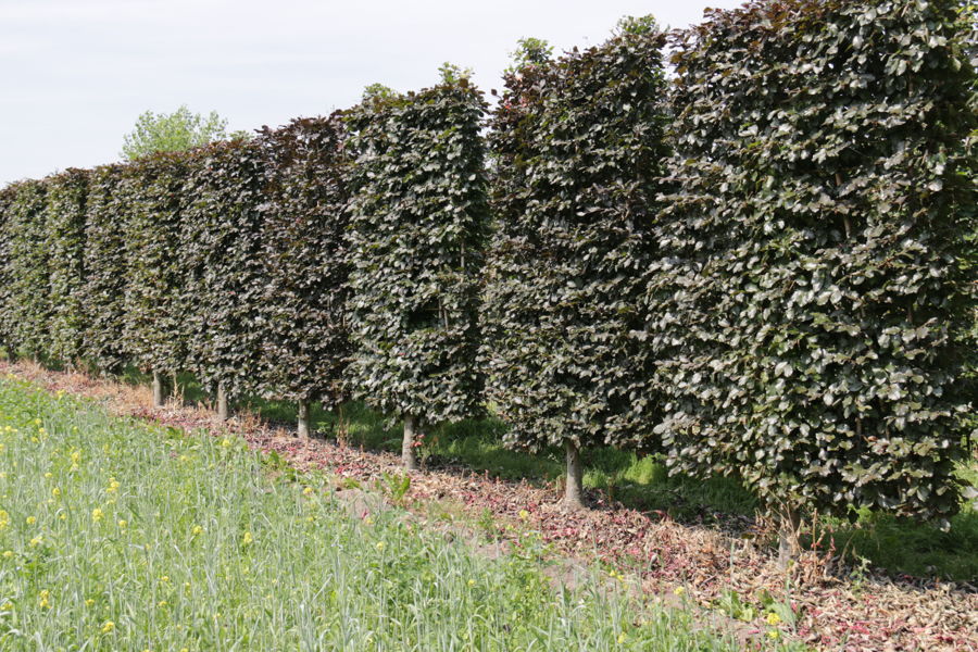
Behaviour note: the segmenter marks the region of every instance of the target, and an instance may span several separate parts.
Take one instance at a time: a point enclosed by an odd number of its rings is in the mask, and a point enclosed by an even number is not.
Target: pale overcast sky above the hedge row
[[[217,111],[231,129],[356,103],[451,61],[488,92],[516,40],[601,42],[623,15],[697,23],[741,0],[0,0],[0,185],[118,159],[147,110]]]

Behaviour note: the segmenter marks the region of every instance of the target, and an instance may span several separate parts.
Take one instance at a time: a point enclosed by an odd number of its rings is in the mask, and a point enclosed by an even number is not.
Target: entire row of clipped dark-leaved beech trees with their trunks
[[[8,350],[946,519],[975,397],[974,15],[777,0],[525,41],[252,140],[0,191]],[[486,159],[490,162],[487,167]],[[158,392],[160,393],[160,392]],[[162,398],[162,397],[158,397]],[[224,401],[218,400],[220,404]],[[973,426],[970,426],[973,427]],[[786,544],[789,539],[786,537]],[[786,549],[786,552],[787,549]]]

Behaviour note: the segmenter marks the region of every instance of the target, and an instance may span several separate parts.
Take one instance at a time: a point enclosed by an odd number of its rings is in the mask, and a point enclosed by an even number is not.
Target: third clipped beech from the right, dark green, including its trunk
[[[349,116],[351,389],[435,424],[481,411],[486,109],[466,79],[375,96]],[[412,465],[405,439],[405,463]]]

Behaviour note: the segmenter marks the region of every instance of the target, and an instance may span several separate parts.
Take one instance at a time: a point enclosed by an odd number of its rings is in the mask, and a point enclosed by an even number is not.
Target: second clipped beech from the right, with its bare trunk
[[[628,20],[602,46],[527,57],[493,116],[489,397],[511,444],[567,447],[572,478],[579,447],[648,448],[657,416],[638,334],[668,153],[663,40]]]

